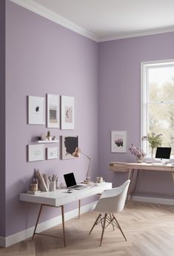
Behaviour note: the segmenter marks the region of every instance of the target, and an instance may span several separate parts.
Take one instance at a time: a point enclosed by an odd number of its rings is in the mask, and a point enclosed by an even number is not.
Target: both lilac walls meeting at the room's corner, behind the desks
[[[57,137],[79,135],[81,149],[93,159],[92,179],[100,170],[107,181],[119,185],[127,179],[127,173],[111,173],[109,162],[134,159],[128,151],[110,153],[110,131],[127,130],[127,147],[131,143],[140,145],[140,63],[174,58],[174,33],[97,44],[8,0],[6,13],[6,208],[4,212],[1,209],[0,223],[4,223],[6,211],[6,230],[1,225],[2,236],[30,228],[36,222],[39,205],[19,202],[19,193],[29,188],[35,167],[43,173],[57,173],[60,181],[64,173],[71,171],[78,180],[84,179],[87,170],[87,159],[83,156],[73,160],[26,161],[31,138],[48,130],[42,125],[27,125],[27,95],[74,96],[76,128],[50,132]],[[3,100],[0,104],[4,109]],[[4,127],[1,131],[3,141]],[[2,159],[4,148],[5,141],[1,143]],[[4,164],[1,161],[2,186]],[[141,190],[174,192],[170,173],[141,172],[140,178]],[[1,193],[4,194],[4,189]],[[2,196],[1,208],[4,199]],[[92,199],[83,201],[88,202]],[[73,208],[77,204],[67,205],[65,211]],[[47,209],[41,220],[58,214],[56,209]]]

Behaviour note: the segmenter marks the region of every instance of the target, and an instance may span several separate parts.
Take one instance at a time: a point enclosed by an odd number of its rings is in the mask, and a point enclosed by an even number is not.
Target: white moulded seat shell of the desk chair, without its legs
[[[118,188],[108,189],[104,191],[98,200],[95,211],[113,214],[124,209],[127,191],[130,185],[130,179],[127,179],[123,185]]]

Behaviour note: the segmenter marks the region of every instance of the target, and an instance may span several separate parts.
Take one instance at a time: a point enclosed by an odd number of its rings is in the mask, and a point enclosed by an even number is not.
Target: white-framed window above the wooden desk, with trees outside
[[[149,132],[163,135],[174,158],[174,60],[141,63],[141,138]],[[150,156],[145,141],[141,147]]]

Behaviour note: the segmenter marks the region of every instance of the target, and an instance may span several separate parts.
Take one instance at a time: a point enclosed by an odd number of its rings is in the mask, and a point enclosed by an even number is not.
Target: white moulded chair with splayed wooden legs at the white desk
[[[95,223],[93,224],[90,233],[93,231],[95,225],[101,223],[102,232],[100,246],[104,235],[104,229],[107,228],[107,226],[110,224],[113,225],[113,230],[114,227],[117,227],[121,231],[121,234],[124,236],[121,226],[119,225],[118,220],[116,220],[116,217],[113,214],[123,211],[129,185],[130,179],[128,179],[126,182],[124,182],[123,185],[118,188],[112,188],[104,191],[101,194],[101,198],[98,200],[94,211],[98,211],[100,212],[100,214],[98,215]],[[102,216],[101,213],[104,214],[104,216]],[[125,236],[124,239],[127,241]]]

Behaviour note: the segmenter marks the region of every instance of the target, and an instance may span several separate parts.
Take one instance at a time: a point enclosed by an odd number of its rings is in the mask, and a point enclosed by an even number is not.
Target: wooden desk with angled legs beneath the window
[[[164,171],[164,172],[170,172],[173,176],[173,182],[174,182],[174,166],[171,164],[166,165],[152,165],[152,164],[146,164],[146,163],[124,163],[124,162],[110,162],[110,170],[116,171],[116,172],[129,172],[129,179],[130,179],[130,188],[128,191],[128,195],[130,195],[130,200],[132,199],[133,193],[148,193],[144,191],[136,191],[136,185],[138,181],[138,174],[140,170],[155,170],[155,171]],[[137,172],[135,173],[135,170]],[[134,183],[134,184],[133,184]],[[158,195],[163,196],[174,196],[170,193],[155,193]]]

